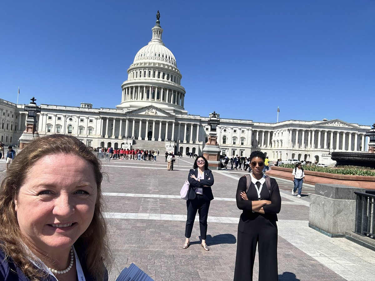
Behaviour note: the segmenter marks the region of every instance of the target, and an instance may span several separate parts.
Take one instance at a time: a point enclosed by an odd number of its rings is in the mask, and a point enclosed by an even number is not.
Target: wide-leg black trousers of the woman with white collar
[[[276,221],[262,216],[245,222],[240,219],[234,281],[253,280],[257,244],[259,281],[278,281],[278,229]]]

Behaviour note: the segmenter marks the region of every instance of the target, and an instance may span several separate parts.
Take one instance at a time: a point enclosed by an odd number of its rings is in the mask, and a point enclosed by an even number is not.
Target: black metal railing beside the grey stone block
[[[356,233],[375,239],[375,195],[354,192],[357,195]]]

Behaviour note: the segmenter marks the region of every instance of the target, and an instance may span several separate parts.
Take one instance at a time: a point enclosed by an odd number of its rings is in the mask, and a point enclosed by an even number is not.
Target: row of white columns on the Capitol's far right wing
[[[317,148],[317,149],[335,149],[335,150],[342,150],[342,151],[365,151],[365,133],[352,133],[352,132],[339,132],[339,131],[332,131],[332,130],[300,130],[296,129],[296,135],[294,136],[293,142],[293,130],[289,131],[289,147],[299,148],[301,142],[301,148]],[[302,138],[300,138],[299,131],[302,131]],[[308,141],[305,142],[305,131],[308,131]],[[318,131],[318,142],[317,147],[315,147],[315,135]],[[322,133],[324,132],[324,133]],[[328,141],[328,134],[330,134],[330,139]],[[347,135],[348,134],[348,135]],[[353,140],[354,134],[354,140]],[[342,135],[342,141],[340,143],[340,135]],[[335,142],[333,138],[335,136]],[[361,147],[358,149],[358,136],[362,139]],[[354,141],[354,149],[352,149],[352,142]],[[323,145],[322,145],[323,142]],[[340,149],[341,144],[341,149]],[[329,147],[328,147],[329,145]]]

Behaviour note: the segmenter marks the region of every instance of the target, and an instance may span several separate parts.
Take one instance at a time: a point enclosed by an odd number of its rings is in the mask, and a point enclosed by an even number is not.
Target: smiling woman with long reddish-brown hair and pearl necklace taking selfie
[[[102,178],[77,138],[30,142],[1,182],[0,280],[108,280]]]

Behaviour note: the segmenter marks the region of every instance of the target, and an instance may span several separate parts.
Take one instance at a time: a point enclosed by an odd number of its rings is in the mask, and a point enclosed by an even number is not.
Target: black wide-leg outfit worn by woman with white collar
[[[263,184],[261,200],[270,200],[270,205],[264,205],[265,214],[252,212],[252,200],[258,200],[255,185],[251,182],[247,196],[243,200],[241,192],[246,191],[246,178],[239,180],[237,187],[237,206],[243,210],[238,224],[236,268],[234,281],[249,281],[253,277],[255,252],[258,244],[259,281],[278,281],[278,228],[277,213],[281,208],[279,186],[271,179],[270,190]]]

